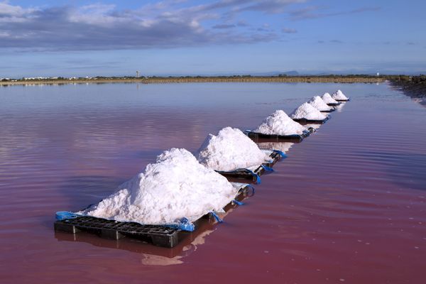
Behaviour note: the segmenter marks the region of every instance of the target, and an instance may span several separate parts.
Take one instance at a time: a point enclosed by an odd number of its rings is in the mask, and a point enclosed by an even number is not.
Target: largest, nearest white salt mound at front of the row
[[[112,195],[77,213],[140,224],[173,224],[183,217],[193,222],[211,210],[222,210],[236,192],[192,153],[172,148]]]

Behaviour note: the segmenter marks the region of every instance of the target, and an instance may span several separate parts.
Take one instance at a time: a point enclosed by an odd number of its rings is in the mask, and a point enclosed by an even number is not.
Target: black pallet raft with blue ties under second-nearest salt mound
[[[244,180],[245,182],[254,182],[256,184],[261,183],[261,175],[263,175],[266,172],[271,172],[273,165],[278,162],[281,158],[285,158],[286,155],[281,151],[273,151],[271,155],[269,155],[271,158],[271,162],[263,163],[262,165],[259,165],[256,170],[249,170],[246,168],[241,168],[237,170],[232,170],[230,172],[226,171],[220,171],[217,170],[217,173],[220,173],[225,178],[228,178],[229,180]]]

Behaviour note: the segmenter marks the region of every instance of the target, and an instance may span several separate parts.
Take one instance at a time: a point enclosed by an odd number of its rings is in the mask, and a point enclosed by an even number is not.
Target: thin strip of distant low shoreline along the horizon
[[[17,80],[4,81],[0,85],[33,84],[109,84],[109,83],[209,83],[209,82],[283,82],[283,83],[376,83],[388,80],[386,77],[363,76],[233,76],[233,77],[147,77],[147,78],[98,78],[75,80]]]

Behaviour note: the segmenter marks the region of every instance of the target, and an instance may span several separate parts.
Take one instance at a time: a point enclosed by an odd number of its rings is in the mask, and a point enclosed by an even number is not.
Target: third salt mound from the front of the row
[[[307,131],[307,129],[290,119],[282,110],[275,111],[253,130],[253,132],[276,135],[301,135],[303,131]]]

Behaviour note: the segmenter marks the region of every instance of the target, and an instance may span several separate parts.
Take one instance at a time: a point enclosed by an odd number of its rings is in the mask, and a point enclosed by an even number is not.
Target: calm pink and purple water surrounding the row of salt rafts
[[[161,151],[344,90],[223,224],[174,249],[55,233]],[[426,108],[387,84],[0,89],[1,283],[425,283]]]

